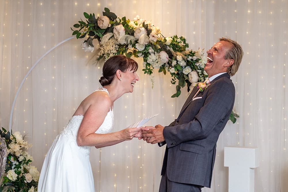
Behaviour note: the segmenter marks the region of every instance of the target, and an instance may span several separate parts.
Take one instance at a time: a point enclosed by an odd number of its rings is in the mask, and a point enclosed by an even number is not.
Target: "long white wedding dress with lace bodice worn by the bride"
[[[101,87],[96,91],[105,91]],[[89,161],[90,146],[77,145],[77,133],[83,115],[72,116],[63,131],[56,137],[45,157],[38,192],[94,192],[94,179]],[[113,111],[107,113],[95,133],[109,133],[113,127]]]

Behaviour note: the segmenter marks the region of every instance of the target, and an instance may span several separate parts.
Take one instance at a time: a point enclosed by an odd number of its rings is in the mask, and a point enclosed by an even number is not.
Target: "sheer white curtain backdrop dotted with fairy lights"
[[[232,77],[240,118],[235,124],[229,121],[221,133],[212,186],[202,191],[228,191],[224,146],[260,149],[255,191],[288,191],[287,0],[0,0],[1,127],[8,129],[18,86],[37,59],[71,36],[70,27],[84,19],[83,12],[102,15],[104,7],[120,17],[151,20],[166,37],[184,35],[194,50],[207,50],[222,36],[237,40],[245,52]],[[21,131],[33,144],[29,152],[38,170],[79,103],[100,87],[101,66],[93,65],[94,54],[82,51],[81,41],[74,38],[48,54],[28,76],[16,101],[12,130]],[[175,85],[157,70],[151,89],[141,59],[137,62],[140,81],[133,93],[115,101],[113,131],[156,113],[148,125],[168,125],[187,98],[186,88],[180,97],[171,98]],[[163,155],[164,147],[137,139],[92,148],[95,190],[158,191]]]

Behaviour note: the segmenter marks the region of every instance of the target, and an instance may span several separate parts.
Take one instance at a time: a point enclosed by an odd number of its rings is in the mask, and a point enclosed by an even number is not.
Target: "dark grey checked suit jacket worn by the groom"
[[[173,182],[211,187],[216,143],[233,109],[235,88],[225,73],[192,101],[197,91],[194,87],[179,117],[163,129],[167,146],[161,175],[166,171]]]

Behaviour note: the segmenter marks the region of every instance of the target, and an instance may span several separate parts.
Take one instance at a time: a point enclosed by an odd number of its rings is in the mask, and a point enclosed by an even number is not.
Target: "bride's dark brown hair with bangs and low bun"
[[[124,55],[110,57],[103,65],[103,76],[99,80],[100,84],[102,86],[111,84],[118,69],[122,72],[127,71],[127,69],[137,71],[138,64]]]

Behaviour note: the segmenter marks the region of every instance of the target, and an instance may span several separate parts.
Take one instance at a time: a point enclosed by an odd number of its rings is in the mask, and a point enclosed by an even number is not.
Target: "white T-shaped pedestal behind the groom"
[[[224,166],[229,167],[229,192],[254,192],[254,168],[259,167],[259,148],[224,147]]]

